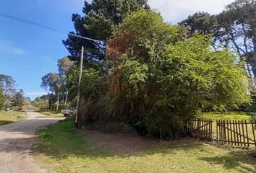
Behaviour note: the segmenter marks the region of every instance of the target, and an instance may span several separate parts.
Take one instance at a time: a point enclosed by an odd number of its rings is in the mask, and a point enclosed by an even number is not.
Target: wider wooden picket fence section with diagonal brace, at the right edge
[[[255,122],[223,120],[217,121],[216,142],[233,146],[256,147]]]

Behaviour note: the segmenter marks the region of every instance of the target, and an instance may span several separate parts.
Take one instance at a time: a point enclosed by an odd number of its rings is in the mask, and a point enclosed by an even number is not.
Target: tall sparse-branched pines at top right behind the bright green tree
[[[239,60],[245,62],[245,67],[256,89],[256,1],[236,0],[226,6],[217,15],[196,13],[180,22],[189,31],[199,30],[204,34],[212,34],[215,48],[220,45],[231,47],[238,54]]]

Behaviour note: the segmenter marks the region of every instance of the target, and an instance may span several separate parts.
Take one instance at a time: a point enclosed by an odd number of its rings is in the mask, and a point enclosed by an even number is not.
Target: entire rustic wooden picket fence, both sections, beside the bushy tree
[[[217,120],[216,136],[213,138],[213,120],[192,118],[187,123],[187,132],[193,138],[216,141],[221,145],[254,146],[256,148],[256,122],[246,120]]]

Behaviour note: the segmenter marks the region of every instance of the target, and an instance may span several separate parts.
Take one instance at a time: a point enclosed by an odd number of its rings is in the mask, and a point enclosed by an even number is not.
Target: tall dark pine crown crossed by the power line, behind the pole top
[[[63,41],[73,61],[79,61],[80,49],[85,46],[86,61],[103,61],[106,41],[111,37],[116,25],[123,22],[124,18],[139,9],[148,9],[147,0],[93,0],[91,4],[85,1],[81,17],[79,14],[72,15],[75,34],[91,37],[99,40],[92,42],[69,36]],[[74,33],[74,32],[70,32]],[[86,63],[90,66],[90,63]]]

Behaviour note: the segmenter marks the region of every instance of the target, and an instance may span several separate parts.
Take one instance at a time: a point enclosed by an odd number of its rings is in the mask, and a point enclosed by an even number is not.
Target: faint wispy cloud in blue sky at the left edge
[[[0,40],[0,53],[23,55],[25,50],[16,48],[11,42]]]

